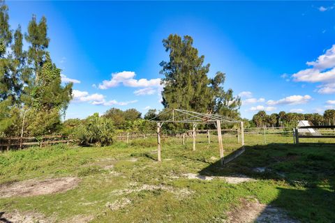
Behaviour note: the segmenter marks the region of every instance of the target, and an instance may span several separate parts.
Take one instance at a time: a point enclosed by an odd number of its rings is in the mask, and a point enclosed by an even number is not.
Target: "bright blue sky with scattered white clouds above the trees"
[[[335,1],[8,1],[10,24],[27,31],[47,17],[50,54],[75,82],[66,117],[110,107],[162,109],[162,40],[190,35],[241,95],[242,117],[335,108]]]

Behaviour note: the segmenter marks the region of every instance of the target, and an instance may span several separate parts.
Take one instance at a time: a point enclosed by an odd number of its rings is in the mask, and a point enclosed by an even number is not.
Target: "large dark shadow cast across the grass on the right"
[[[278,195],[269,206],[283,208],[301,222],[335,222],[335,147],[332,144],[269,144],[245,149],[224,167],[220,161],[214,162],[199,174],[271,180],[268,182]],[[225,159],[230,156],[234,154]]]

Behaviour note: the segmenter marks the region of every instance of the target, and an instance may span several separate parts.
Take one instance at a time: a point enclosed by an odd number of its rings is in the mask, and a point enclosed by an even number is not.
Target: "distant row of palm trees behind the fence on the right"
[[[313,125],[335,125],[335,109],[327,109],[324,114],[301,114],[295,112],[279,112],[278,114],[267,115],[266,112],[260,111],[255,114],[249,125],[258,128],[263,127],[285,127],[296,126],[299,121],[306,120]]]

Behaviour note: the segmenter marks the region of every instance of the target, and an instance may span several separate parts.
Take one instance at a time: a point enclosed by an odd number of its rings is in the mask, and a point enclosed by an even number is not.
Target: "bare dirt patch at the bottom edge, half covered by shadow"
[[[228,213],[227,223],[298,223],[288,217],[285,211],[259,203],[257,200],[241,199],[241,206]]]

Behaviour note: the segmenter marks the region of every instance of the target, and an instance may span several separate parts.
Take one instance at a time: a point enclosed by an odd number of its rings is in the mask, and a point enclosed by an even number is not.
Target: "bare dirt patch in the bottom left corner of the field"
[[[0,222],[15,223],[47,223],[54,222],[39,213],[25,212],[20,213],[17,210],[0,213]]]

